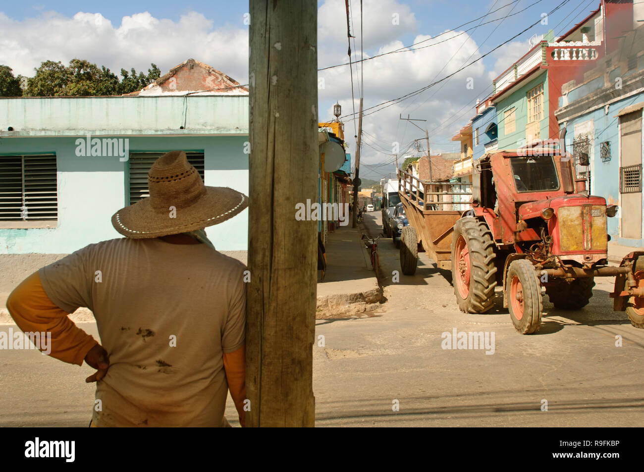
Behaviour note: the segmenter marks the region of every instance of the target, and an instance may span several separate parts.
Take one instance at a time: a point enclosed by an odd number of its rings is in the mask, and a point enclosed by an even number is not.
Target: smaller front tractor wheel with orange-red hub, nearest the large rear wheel
[[[544,303],[535,266],[529,260],[517,259],[510,263],[507,268],[506,297],[515,329],[520,334],[538,331]]]

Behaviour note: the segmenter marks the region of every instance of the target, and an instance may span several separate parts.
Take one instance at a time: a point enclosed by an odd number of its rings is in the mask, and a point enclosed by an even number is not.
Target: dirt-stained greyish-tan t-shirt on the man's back
[[[39,270],[53,303],[96,318],[109,354],[97,426],[221,426],[223,353],[245,341],[244,270],[205,244],[157,238],[102,241]]]

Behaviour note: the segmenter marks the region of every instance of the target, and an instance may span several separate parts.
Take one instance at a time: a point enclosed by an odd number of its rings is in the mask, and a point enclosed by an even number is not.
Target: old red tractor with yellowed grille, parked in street
[[[616,205],[585,191],[571,156],[549,148],[488,154],[475,162],[472,209],[453,225],[451,271],[459,308],[484,313],[502,285],[520,334],[539,329],[542,291],[557,308],[582,308],[594,277],[616,276],[614,310],[644,328],[644,250],[608,265],[607,217]]]

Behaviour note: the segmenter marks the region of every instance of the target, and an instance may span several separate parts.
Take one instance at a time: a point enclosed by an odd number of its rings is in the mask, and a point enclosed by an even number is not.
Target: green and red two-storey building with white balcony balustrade
[[[556,39],[549,32],[493,81],[498,149],[558,138],[554,111],[562,87],[571,80],[582,82],[584,73],[616,46],[623,25],[632,25],[632,12],[632,0],[601,0],[571,30]]]

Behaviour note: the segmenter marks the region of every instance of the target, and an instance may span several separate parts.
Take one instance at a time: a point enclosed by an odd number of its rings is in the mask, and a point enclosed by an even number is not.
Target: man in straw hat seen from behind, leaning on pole
[[[52,357],[97,369],[92,426],[225,426],[230,390],[244,422],[245,266],[204,228],[247,196],[206,187],[183,151],[161,156],[150,196],[112,216],[126,236],[90,244],[19,285],[7,308],[52,335]],[[102,345],[67,317],[92,310]]]

